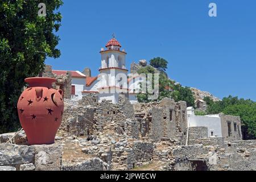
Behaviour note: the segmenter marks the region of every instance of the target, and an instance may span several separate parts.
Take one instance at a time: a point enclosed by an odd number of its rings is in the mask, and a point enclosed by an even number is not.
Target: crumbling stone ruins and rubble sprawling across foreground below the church
[[[0,170],[256,169],[256,140],[210,138],[207,127],[188,130],[186,109],[168,98],[135,105],[123,95],[119,104],[98,103],[94,94],[65,100],[55,144],[27,146],[24,133],[0,135]]]

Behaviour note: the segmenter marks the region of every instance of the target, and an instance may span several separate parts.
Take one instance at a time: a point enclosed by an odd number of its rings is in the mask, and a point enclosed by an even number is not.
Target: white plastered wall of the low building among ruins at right
[[[189,127],[208,127],[208,137],[211,136],[211,131],[216,137],[222,137],[221,118],[216,116],[201,116],[188,115]]]

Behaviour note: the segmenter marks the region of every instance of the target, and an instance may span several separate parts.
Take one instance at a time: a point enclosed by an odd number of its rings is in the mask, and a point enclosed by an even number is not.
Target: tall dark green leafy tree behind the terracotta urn
[[[38,16],[39,3],[46,16]],[[0,133],[19,127],[16,104],[24,78],[37,76],[47,56],[57,58],[61,0],[0,1]]]

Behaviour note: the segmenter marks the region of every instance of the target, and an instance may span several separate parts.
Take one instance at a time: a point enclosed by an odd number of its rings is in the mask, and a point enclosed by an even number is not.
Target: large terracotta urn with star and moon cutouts
[[[26,78],[28,88],[18,101],[19,121],[28,143],[52,144],[64,111],[63,91],[52,88],[54,78]]]

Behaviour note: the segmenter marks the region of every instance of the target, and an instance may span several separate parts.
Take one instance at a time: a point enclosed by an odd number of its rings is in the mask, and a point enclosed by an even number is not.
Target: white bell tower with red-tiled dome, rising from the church
[[[127,73],[126,69],[126,55],[125,49],[121,51],[121,44],[113,38],[106,43],[106,49],[101,48],[101,67],[100,75],[101,84],[98,88],[101,98],[112,100],[113,103],[118,103],[119,93],[127,93]],[[104,94],[103,94],[104,93]],[[104,97],[105,96],[105,97]]]

